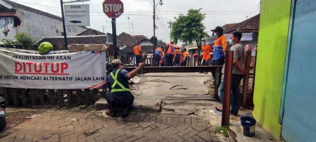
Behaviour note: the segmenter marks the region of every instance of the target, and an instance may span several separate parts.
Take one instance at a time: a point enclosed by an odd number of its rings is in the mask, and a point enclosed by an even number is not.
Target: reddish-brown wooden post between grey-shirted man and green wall
[[[243,98],[243,101],[242,101],[242,107],[246,107],[247,106],[251,52],[252,52],[252,50],[248,50],[247,54],[246,54],[246,61],[245,61],[246,74],[244,74],[244,80],[243,80],[244,98]]]

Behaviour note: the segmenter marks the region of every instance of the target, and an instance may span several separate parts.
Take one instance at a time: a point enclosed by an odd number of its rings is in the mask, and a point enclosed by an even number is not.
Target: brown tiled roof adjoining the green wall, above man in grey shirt
[[[224,30],[224,33],[232,33],[234,31],[237,31],[239,29],[240,32],[246,31],[255,31],[259,30],[259,20],[260,20],[260,14],[255,15],[246,21],[242,21],[239,24],[235,25],[234,27],[231,27],[229,29]]]

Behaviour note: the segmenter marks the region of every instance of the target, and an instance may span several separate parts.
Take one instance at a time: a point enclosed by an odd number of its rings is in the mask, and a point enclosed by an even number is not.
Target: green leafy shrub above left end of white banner
[[[36,42],[33,40],[33,37],[24,32],[16,34],[14,38],[16,39],[16,41],[12,41],[5,38],[1,39],[1,41],[3,42],[4,45],[21,44],[23,47],[26,47],[27,45],[32,46],[36,44]]]

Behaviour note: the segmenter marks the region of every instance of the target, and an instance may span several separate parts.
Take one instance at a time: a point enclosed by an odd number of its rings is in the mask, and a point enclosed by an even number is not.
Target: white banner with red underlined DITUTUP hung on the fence
[[[106,52],[0,48],[0,87],[35,89],[106,88]]]

